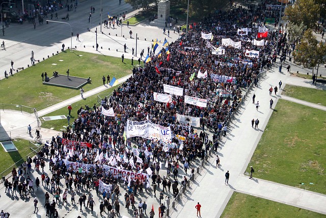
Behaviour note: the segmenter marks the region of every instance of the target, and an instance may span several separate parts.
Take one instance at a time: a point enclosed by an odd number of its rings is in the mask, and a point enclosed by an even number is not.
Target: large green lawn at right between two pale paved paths
[[[325,130],[325,111],[279,100],[246,173],[326,194]]]

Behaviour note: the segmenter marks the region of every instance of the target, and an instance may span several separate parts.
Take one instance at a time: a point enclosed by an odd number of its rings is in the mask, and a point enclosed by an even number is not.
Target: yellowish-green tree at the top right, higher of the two
[[[295,25],[303,23],[307,28],[314,28],[319,20],[320,5],[317,0],[296,0],[293,6],[285,9],[284,19]]]

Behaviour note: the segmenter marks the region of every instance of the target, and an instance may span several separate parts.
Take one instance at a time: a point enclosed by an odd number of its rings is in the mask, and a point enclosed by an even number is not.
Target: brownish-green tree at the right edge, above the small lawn
[[[293,52],[293,57],[294,61],[302,64],[304,67],[312,68],[313,73],[314,67],[319,67],[319,64],[325,63],[325,54],[325,43],[318,43],[316,36],[309,29],[305,31],[301,43],[297,46],[296,51]]]

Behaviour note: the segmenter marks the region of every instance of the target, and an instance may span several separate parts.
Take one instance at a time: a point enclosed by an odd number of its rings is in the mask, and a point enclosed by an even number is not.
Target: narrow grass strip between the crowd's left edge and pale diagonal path
[[[90,96],[89,98],[85,98],[84,100],[80,100],[78,102],[75,102],[71,104],[72,111],[71,111],[71,117],[70,117],[70,125],[74,122],[74,119],[78,117],[77,110],[80,107],[86,108],[85,106],[88,105],[90,108],[94,106],[94,104],[97,104],[97,95],[99,95],[101,98],[105,98],[105,96],[108,96],[110,93],[113,92],[114,89],[117,89],[118,86],[109,88],[105,91],[99,92],[96,95]],[[45,116],[55,116],[55,115],[68,115],[68,109],[67,107],[61,108],[59,110],[53,111],[49,114],[46,114]],[[63,126],[68,126],[68,120],[67,119],[57,119],[57,120],[48,120],[45,121],[41,118],[42,121],[42,128],[53,128],[54,130],[61,131],[61,129],[65,129]]]

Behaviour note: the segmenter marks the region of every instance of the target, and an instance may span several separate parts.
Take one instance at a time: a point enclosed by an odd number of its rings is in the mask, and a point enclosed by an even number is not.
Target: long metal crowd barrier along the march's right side
[[[264,78],[265,76],[266,76],[266,69],[265,69],[265,67],[263,67],[260,70],[259,74],[257,75],[257,78],[258,79],[259,78]],[[248,87],[246,93],[244,93],[243,98],[241,99],[240,103],[238,104],[238,106],[236,107],[236,109],[232,112],[232,114],[230,115],[230,117],[228,118],[228,120],[226,122],[226,125],[227,126],[230,125],[230,123],[232,122],[235,114],[239,111],[239,108],[244,103],[244,101],[246,101],[248,95],[250,94],[250,91],[253,89],[253,86],[254,86],[254,83],[251,83],[250,86]],[[222,137],[223,137],[223,134],[221,132],[219,134],[219,136],[218,136],[218,140],[221,140]],[[207,154],[205,155],[203,161],[201,161],[201,163],[199,164],[199,166],[196,168],[195,173],[190,176],[190,178],[188,180],[188,184],[186,185],[186,187],[185,186],[181,186],[181,190],[179,191],[178,195],[172,201],[172,208],[171,208],[172,210],[170,211],[170,208],[169,208],[169,210],[168,210],[169,212],[167,211],[167,216],[170,216],[171,217],[171,215],[173,213],[177,212],[177,210],[176,210],[177,205],[182,200],[182,198],[184,196],[186,196],[186,194],[185,194],[186,188],[191,187],[195,183],[197,177],[200,176],[200,172],[202,172],[203,168],[207,164],[207,162],[209,160],[209,157],[213,153],[213,149],[214,149],[214,146],[211,146],[209,148],[209,150],[207,151]]]

